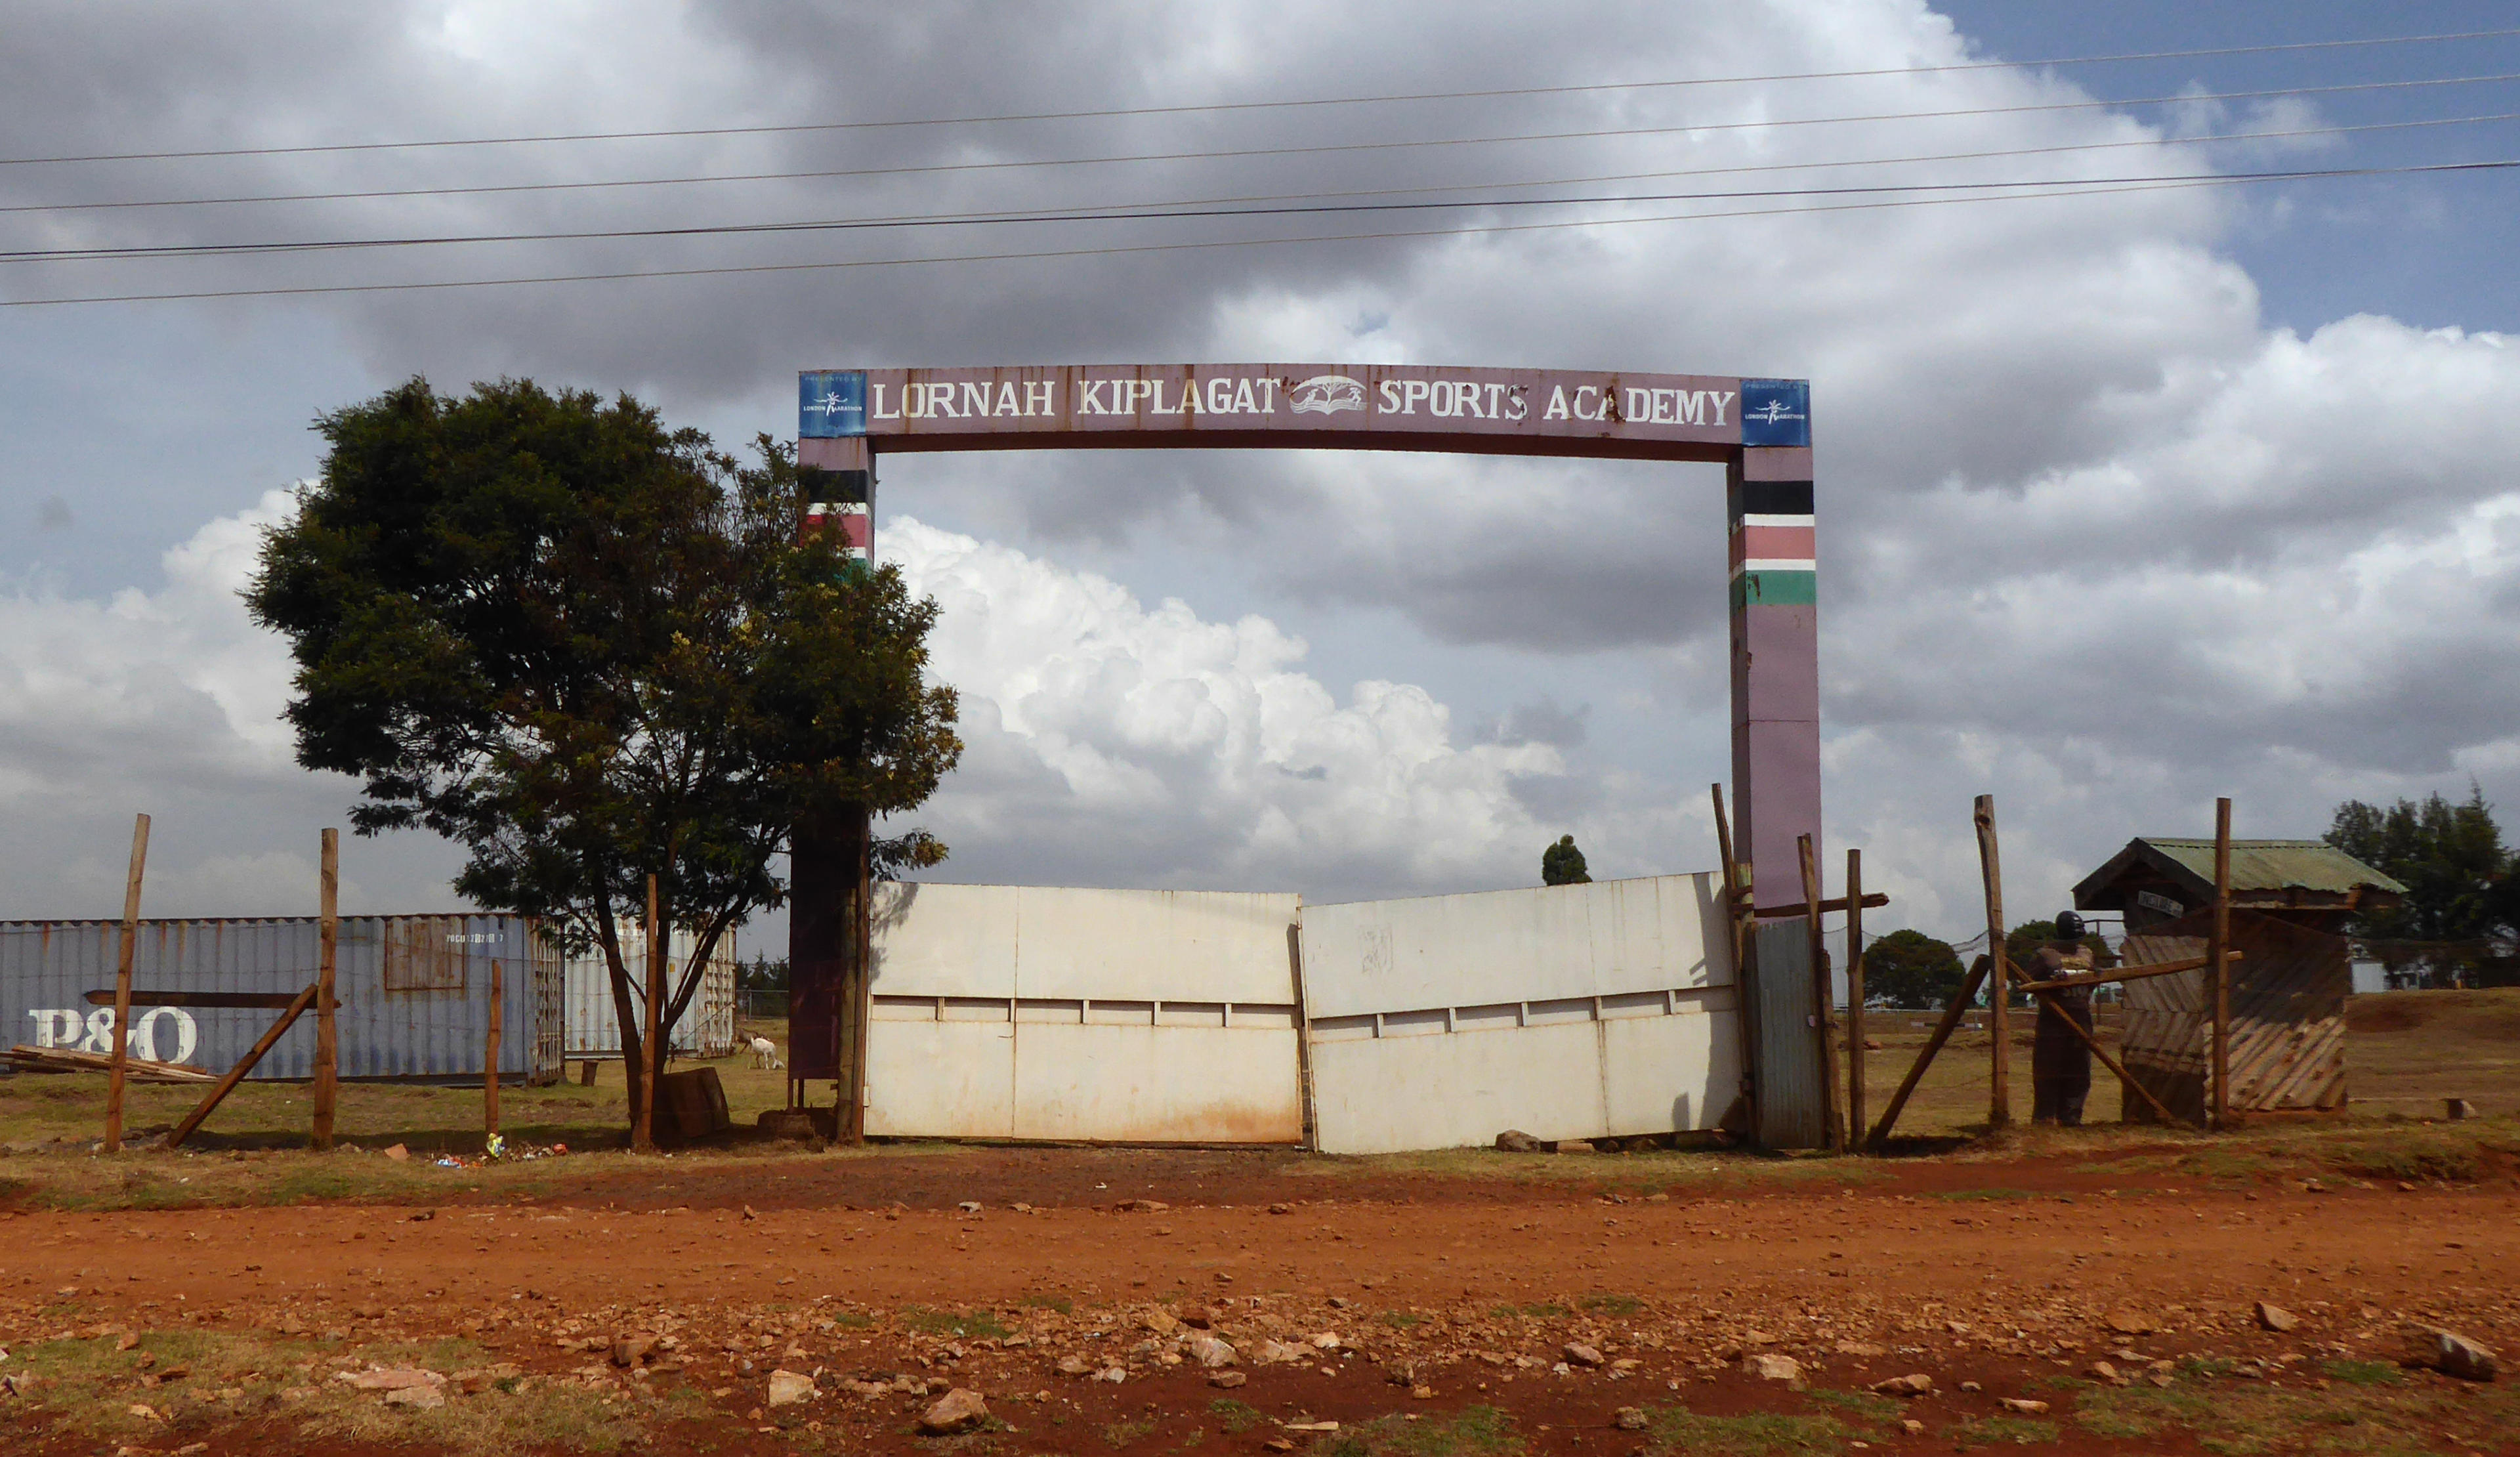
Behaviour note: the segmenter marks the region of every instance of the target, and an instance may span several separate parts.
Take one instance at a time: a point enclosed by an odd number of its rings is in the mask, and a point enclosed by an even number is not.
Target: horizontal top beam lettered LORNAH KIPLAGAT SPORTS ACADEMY
[[[1754,403],[1751,393],[1761,398]],[[834,464],[847,454],[842,441],[854,449],[859,439],[877,451],[1323,446],[1726,461],[1744,444],[1809,444],[1807,401],[1802,381],[1613,371],[1353,363],[806,371],[799,461],[842,469]]]

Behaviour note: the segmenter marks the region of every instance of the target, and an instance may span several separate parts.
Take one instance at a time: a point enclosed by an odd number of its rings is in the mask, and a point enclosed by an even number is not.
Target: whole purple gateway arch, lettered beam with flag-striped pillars
[[[1011,449],[1333,449],[1711,461],[1731,532],[1736,852],[1761,905],[1802,897],[1794,839],[1819,844],[1819,615],[1807,381],[1439,366],[832,368],[796,378],[806,529],[872,552],[874,459]],[[799,902],[844,870],[799,834]],[[847,945],[791,920],[791,1076],[837,1076]]]

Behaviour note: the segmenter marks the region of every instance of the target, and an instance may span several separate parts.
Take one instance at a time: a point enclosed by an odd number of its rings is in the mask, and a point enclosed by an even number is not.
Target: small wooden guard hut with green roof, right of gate
[[[2407,887],[2316,839],[2230,844],[2230,1112],[2318,1114],[2346,1107],[2351,950],[2359,913]],[[2213,839],[2132,839],[2074,887],[2076,910],[2127,918],[2127,965],[2205,955],[2213,930]],[[2129,981],[2127,1076],[2190,1122],[2213,1107],[2213,981],[2197,968]],[[2152,1122],[2139,1097],[2127,1122]]]

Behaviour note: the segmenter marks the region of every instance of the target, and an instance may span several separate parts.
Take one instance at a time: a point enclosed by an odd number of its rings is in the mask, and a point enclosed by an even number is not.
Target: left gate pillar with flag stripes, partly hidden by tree
[[[806,431],[819,421],[806,416]],[[874,557],[874,449],[867,436],[796,441],[799,537],[832,532],[849,562]],[[864,1137],[872,822],[859,807],[801,817],[789,837],[789,1107],[806,1081],[839,1084],[837,1137]]]

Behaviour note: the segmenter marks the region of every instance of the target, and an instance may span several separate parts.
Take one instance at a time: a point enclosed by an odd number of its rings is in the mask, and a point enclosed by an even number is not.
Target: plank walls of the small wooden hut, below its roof
[[[2205,955],[2213,910],[2129,935],[2127,965]],[[2233,1112],[2334,1112],[2346,1107],[2346,996],[2351,948],[2341,935],[2281,915],[2230,913]],[[2213,983],[2205,968],[2127,983],[2122,1061],[2172,1114],[2205,1119],[2213,1086]],[[2127,1122],[2152,1122],[2127,1099]]]

